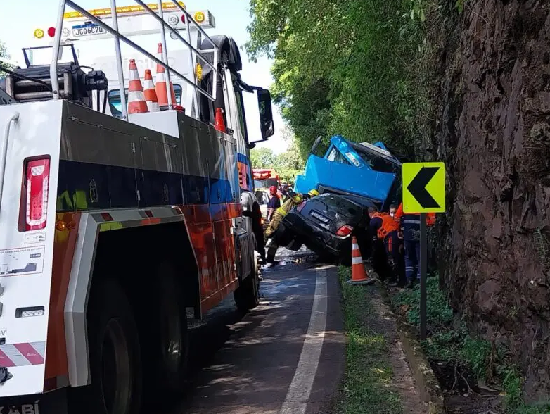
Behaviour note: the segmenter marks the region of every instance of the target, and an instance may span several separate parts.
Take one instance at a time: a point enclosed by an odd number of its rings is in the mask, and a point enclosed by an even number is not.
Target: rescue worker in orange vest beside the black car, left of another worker
[[[376,253],[377,243],[382,242],[386,260],[390,266],[390,284],[396,285],[399,280],[399,222],[396,222],[389,213],[378,213],[376,208],[369,207],[369,232],[373,243],[371,249],[372,260]]]

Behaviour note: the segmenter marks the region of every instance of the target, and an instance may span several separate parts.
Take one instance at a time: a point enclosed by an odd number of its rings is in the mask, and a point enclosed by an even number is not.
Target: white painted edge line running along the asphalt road
[[[305,413],[317,367],[319,366],[319,358],[325,337],[328,300],[326,294],[326,270],[321,268],[317,269],[316,272],[312,315],[309,318],[309,327],[307,328],[302,353],[300,353],[298,367],[296,367],[294,377],[288,387],[283,408],[281,408],[281,414]]]

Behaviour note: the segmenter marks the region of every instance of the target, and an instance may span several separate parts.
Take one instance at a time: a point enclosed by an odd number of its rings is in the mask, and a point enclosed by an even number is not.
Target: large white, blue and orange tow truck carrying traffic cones
[[[243,94],[265,140],[269,91],[209,11],[134,1],[60,0],[0,89],[0,414],[139,413],[184,387],[193,319],[259,303]],[[128,110],[130,58],[165,69],[161,111]]]

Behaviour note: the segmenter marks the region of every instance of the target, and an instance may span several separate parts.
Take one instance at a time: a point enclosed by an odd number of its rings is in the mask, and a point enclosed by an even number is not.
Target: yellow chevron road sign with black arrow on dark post
[[[420,339],[426,339],[426,282],[428,239],[426,213],[445,213],[445,164],[404,163],[402,165],[403,213],[420,213]]]

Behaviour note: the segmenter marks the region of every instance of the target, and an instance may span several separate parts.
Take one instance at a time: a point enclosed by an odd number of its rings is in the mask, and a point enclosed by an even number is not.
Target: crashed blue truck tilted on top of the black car
[[[401,162],[383,143],[356,144],[335,135],[324,152],[322,144],[321,137],[314,142],[304,174],[296,177],[296,191],[314,188],[320,193],[362,196],[380,210],[399,201]]]

